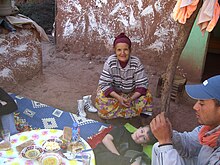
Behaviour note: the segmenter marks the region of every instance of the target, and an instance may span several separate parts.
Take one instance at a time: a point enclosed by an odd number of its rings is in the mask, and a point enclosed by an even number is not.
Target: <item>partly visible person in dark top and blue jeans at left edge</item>
[[[14,113],[18,109],[13,98],[0,88],[0,122],[3,129],[10,130],[11,134],[17,133],[14,121]]]

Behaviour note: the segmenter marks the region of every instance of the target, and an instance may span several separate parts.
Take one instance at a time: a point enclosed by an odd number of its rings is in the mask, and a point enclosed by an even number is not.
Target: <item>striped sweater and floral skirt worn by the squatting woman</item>
[[[142,112],[152,113],[152,96],[147,89],[148,78],[140,60],[135,56],[130,59],[125,68],[122,68],[117,56],[111,55],[104,64],[99,80],[95,106],[102,119],[118,117],[131,118]],[[132,101],[132,106],[124,107],[117,99],[106,95],[113,89],[124,98],[130,98],[136,88],[145,88],[146,93]]]

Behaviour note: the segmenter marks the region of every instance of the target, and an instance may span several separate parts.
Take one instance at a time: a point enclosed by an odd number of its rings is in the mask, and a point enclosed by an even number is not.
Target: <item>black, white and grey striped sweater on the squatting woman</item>
[[[147,89],[148,78],[137,57],[130,56],[128,64],[122,68],[117,56],[113,54],[104,64],[99,86],[103,92],[112,87],[116,92],[131,93],[137,87]]]

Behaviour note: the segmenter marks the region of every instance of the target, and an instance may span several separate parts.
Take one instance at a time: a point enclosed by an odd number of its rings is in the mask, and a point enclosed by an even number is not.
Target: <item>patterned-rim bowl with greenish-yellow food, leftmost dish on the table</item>
[[[20,154],[26,159],[38,159],[42,155],[43,151],[43,148],[39,146],[30,145],[25,147]]]

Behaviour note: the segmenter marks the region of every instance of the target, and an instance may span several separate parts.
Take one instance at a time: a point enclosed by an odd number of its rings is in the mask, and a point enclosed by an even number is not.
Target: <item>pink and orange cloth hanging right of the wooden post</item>
[[[198,15],[197,25],[199,26],[202,35],[205,31],[211,32],[220,15],[220,7],[218,0],[205,0]]]

